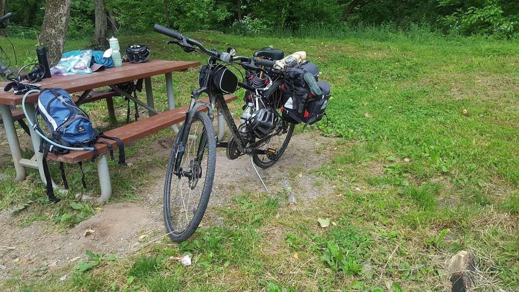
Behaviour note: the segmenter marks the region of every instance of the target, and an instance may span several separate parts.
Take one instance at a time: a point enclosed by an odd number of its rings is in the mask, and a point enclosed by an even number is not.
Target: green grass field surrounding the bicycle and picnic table
[[[318,168],[333,194],[293,209],[282,194],[237,193],[213,207],[226,224],[199,228],[181,245],[165,241],[114,261],[92,256],[97,267],[63,282],[57,273],[17,275],[0,290],[444,291],[444,261],[462,249],[476,256],[477,291],[519,289],[519,42],[420,32],[190,36],[218,49],[236,47],[240,55],[268,45],[307,51],[332,85],[330,123],[310,130],[339,137],[332,162]],[[203,60],[165,41],[157,34],[121,38],[151,45],[154,58]],[[13,42],[33,50],[33,41]],[[67,49],[84,45],[70,42]],[[186,103],[196,77],[196,70],[175,75],[177,103]],[[165,101],[162,78],[154,83]],[[239,106],[233,105],[236,112]],[[95,115],[103,107],[87,109]],[[127,155],[141,155],[161,135],[136,143]],[[13,175],[7,158],[0,172]],[[129,169],[113,164],[113,201],[140,200],[153,164],[145,157]],[[89,177],[96,185],[95,175]],[[72,180],[80,189],[79,175]],[[3,180],[0,208],[35,201],[44,189],[35,172],[19,184]],[[41,221],[66,231],[93,214],[87,207],[29,204],[17,215],[21,225]],[[334,224],[321,228],[318,218]],[[193,266],[169,260],[185,253],[193,255]]]

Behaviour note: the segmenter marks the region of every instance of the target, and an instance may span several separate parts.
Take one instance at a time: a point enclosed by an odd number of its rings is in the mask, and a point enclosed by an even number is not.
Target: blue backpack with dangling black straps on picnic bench
[[[50,137],[45,135],[38,123],[38,116],[45,121]],[[114,140],[119,148],[119,164],[125,165],[125,150],[122,141],[116,137],[108,137],[99,130],[95,129],[88,117],[87,113],[77,107],[72,100],[69,92],[61,88],[47,88],[40,92],[38,98],[38,107],[36,109],[36,115],[34,117],[34,128],[40,136],[45,136],[52,143],[42,138],[39,151],[43,153],[43,170],[45,174],[45,180],[47,181],[47,195],[49,200],[57,203],[60,200],[54,196],[54,190],[52,189],[52,181],[50,178],[50,171],[47,165],[47,154],[49,152],[54,154],[67,154],[70,150],[61,148],[59,145],[69,148],[77,148],[79,150],[92,150],[92,160],[97,156],[97,149],[94,144],[98,138],[102,137],[105,139]],[[42,136],[42,137],[43,137]],[[110,151],[110,156],[114,160],[114,151],[112,145],[106,141],[100,141],[105,144]],[[78,163],[83,173],[83,166],[81,162]],[[60,162],[61,178],[63,179],[63,185],[65,189],[69,188],[69,185],[65,178],[65,170],[63,163]],[[83,187],[86,188],[85,175],[81,176],[81,182]]]

